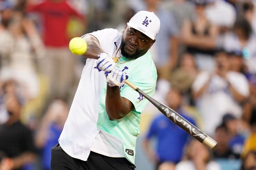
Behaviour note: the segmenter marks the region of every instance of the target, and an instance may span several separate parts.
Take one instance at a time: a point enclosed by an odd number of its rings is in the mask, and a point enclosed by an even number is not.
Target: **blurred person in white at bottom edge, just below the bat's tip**
[[[175,170],[220,170],[217,162],[210,158],[209,150],[202,143],[192,140],[186,150],[185,159],[179,162]]]

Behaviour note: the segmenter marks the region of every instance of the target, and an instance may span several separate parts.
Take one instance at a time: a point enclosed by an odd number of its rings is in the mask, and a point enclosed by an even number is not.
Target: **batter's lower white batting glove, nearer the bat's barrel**
[[[124,81],[128,79],[128,75],[116,68],[113,68],[112,71],[105,72],[107,85],[114,86],[122,86],[124,85]]]

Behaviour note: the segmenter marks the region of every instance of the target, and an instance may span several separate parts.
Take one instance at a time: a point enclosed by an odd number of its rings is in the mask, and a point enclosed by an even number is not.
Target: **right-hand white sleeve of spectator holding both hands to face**
[[[244,97],[249,96],[249,83],[244,75],[241,73],[231,72],[227,75],[227,79],[229,83],[237,90],[237,92]]]

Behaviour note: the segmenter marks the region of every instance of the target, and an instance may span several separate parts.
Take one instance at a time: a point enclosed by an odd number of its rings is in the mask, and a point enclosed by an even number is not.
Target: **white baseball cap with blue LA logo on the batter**
[[[154,40],[160,29],[160,20],[153,12],[139,11],[130,19],[127,25]]]

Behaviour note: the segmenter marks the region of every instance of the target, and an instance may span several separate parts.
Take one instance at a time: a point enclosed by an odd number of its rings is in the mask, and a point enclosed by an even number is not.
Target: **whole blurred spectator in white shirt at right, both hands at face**
[[[225,113],[242,116],[241,102],[249,96],[249,85],[241,73],[229,71],[224,51],[215,54],[215,70],[201,72],[192,85],[196,107],[202,116],[203,128],[209,135],[222,121]]]

